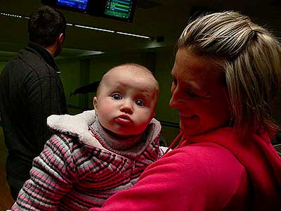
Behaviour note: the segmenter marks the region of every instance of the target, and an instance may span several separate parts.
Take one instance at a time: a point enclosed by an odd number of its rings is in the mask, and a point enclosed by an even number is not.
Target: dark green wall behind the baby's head
[[[155,52],[138,52],[128,54],[101,54],[91,58],[81,60],[58,60],[58,66],[62,72],[60,75],[65,88],[67,104],[79,106],[79,108],[93,108],[93,96],[90,94],[77,94],[70,96],[70,93],[92,82],[100,81],[101,77],[110,68],[122,63],[138,63],[144,65],[152,72],[159,82],[160,92],[156,109],[157,120],[164,122],[178,122],[178,113],[176,110],[169,108],[169,99],[171,98],[171,68],[173,67],[173,49],[165,49]],[[70,108],[70,113],[81,112],[79,109]],[[178,134],[178,128],[162,126],[162,135],[169,144]]]

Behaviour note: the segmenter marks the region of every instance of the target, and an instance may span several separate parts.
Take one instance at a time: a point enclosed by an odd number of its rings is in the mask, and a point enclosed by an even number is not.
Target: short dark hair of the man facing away
[[[63,13],[50,6],[39,7],[28,20],[30,41],[44,47],[55,44],[61,33],[65,35],[65,29],[66,21]]]

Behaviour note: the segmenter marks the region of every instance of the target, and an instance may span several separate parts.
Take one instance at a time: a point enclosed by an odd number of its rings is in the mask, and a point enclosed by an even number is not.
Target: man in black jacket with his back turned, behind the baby
[[[67,113],[54,60],[63,48],[65,28],[60,11],[38,8],[28,20],[27,48],[7,63],[0,76],[0,113],[8,148],[6,177],[14,200],[30,178],[33,158],[51,136],[46,118]]]

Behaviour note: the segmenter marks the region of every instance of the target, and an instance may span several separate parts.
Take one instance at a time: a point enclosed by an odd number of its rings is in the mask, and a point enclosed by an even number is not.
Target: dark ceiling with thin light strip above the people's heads
[[[40,0],[0,0],[0,13],[29,16]],[[235,10],[250,15],[281,37],[281,0],[138,0],[133,23],[82,13],[63,11],[67,23],[100,27],[153,37],[143,39],[123,34],[111,34],[67,26],[63,56],[79,56],[91,51],[106,53],[119,51],[153,50],[173,46],[188,22],[191,13],[200,11]],[[0,57],[9,57],[27,43],[27,19],[0,15]],[[157,37],[164,41],[157,42]],[[159,41],[159,40],[158,40]]]

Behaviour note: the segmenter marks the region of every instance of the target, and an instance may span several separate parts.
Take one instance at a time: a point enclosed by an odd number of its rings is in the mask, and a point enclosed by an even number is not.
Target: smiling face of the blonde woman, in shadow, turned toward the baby
[[[229,122],[227,88],[214,60],[179,49],[171,75],[170,106],[178,109],[185,134],[202,134]]]

